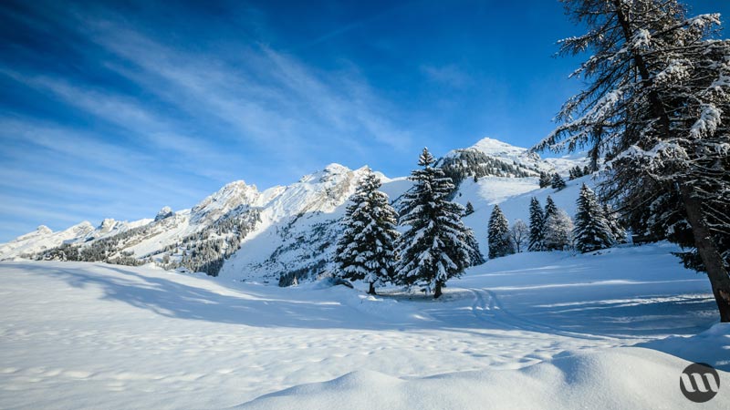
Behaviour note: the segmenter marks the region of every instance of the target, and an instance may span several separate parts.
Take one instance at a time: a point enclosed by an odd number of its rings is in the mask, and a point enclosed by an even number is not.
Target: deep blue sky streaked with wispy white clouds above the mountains
[[[0,241],[189,208],[235,179],[530,146],[578,90],[579,59],[554,54],[579,33],[550,0],[6,0]]]

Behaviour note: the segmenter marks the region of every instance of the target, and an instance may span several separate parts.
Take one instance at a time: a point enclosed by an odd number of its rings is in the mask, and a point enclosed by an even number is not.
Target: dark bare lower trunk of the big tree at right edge
[[[684,183],[680,186],[684,209],[687,211],[687,220],[692,226],[694,246],[707,270],[707,278],[713,288],[714,302],[720,312],[720,322],[730,322],[730,276],[725,270],[725,261],[714,244],[710,232],[703,218],[702,202],[694,196],[692,187]]]

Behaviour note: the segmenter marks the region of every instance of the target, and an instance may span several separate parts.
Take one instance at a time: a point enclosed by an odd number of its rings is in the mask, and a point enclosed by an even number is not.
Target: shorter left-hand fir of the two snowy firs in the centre
[[[381,179],[366,169],[345,210],[335,257],[342,277],[367,282],[370,294],[375,294],[375,285],[392,280],[399,236],[397,213],[380,187]]]

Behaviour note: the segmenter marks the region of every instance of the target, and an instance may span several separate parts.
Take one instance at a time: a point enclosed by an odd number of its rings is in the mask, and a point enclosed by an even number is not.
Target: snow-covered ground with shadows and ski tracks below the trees
[[[730,329],[670,251],[513,255],[435,302],[3,262],[0,408],[692,408],[687,361],[729,408]]]

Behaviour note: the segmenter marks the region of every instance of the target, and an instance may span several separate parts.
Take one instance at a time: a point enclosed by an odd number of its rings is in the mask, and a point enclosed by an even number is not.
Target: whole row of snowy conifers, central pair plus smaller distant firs
[[[412,171],[414,185],[403,194],[400,213],[379,190],[381,180],[365,169],[341,220],[344,230],[334,258],[339,276],[368,283],[370,294],[376,294],[376,286],[392,283],[422,286],[438,298],[449,279],[484,261],[474,232],[461,220],[474,212],[474,206],[467,202],[464,209],[448,200],[454,184],[435,163],[428,149],[423,149],[418,162],[422,168]],[[545,208],[533,197],[529,225],[515,220],[511,227],[495,205],[487,223],[488,258],[525,249],[596,251],[624,240],[616,212],[601,203],[586,184],[580,189],[577,205],[574,226],[552,197],[547,196]],[[405,228],[402,234],[398,225]]]

